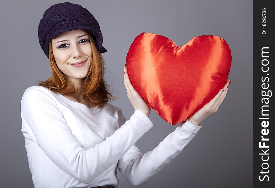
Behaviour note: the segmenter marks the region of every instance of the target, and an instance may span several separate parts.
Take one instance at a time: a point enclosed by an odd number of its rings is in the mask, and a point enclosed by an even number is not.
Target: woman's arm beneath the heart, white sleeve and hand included
[[[165,165],[169,164],[193,139],[201,127],[200,123],[218,110],[225,99],[230,82],[227,81],[210,102],[190,116],[184,123],[182,122],[174,132],[170,133],[152,151],[142,155],[140,150],[133,145],[119,159],[118,168],[121,174],[135,186],[149,181],[151,177],[156,175]]]

